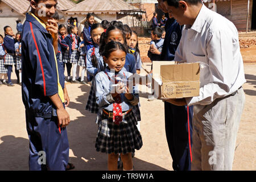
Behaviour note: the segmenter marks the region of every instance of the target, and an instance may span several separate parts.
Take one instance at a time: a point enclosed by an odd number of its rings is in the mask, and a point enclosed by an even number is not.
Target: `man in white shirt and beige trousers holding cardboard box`
[[[185,25],[175,61],[201,62],[200,96],[168,100],[194,105],[192,170],[232,170],[246,82],[238,32],[201,0],[164,0]]]

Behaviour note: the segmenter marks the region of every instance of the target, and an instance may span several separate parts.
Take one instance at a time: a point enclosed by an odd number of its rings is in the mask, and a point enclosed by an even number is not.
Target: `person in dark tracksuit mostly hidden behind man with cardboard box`
[[[174,60],[179,46],[182,27],[174,18],[170,18],[163,0],[158,0],[158,7],[166,13],[166,38],[164,39],[161,60]],[[175,171],[191,170],[192,118],[193,106],[176,106],[164,102],[166,138],[172,156],[172,168]]]

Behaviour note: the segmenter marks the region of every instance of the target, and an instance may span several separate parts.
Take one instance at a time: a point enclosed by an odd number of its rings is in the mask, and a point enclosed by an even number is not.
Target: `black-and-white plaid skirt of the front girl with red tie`
[[[115,125],[113,118],[104,113],[99,116],[96,151],[127,154],[142,147],[142,137],[135,125],[133,112],[126,114],[119,125]]]

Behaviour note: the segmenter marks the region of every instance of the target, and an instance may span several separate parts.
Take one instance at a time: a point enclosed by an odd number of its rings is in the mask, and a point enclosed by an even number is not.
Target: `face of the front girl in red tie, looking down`
[[[114,69],[115,72],[119,72],[125,65],[125,57],[126,53],[120,49],[117,49],[116,51],[110,53],[108,58],[104,57],[104,61],[108,64],[110,69]]]

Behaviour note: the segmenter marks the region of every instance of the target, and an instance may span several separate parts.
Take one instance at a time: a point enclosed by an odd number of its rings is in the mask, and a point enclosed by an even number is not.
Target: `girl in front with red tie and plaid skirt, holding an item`
[[[123,170],[133,170],[131,152],[139,150],[143,144],[133,113],[133,106],[139,101],[135,92],[138,87],[130,85],[128,88],[125,83],[116,81],[116,77],[127,80],[133,75],[123,68],[126,53],[119,42],[106,44],[102,56],[108,67],[95,77],[96,100],[100,107],[95,147],[97,151],[109,154],[109,170],[117,170],[119,154]]]

